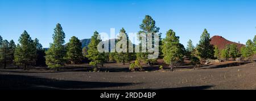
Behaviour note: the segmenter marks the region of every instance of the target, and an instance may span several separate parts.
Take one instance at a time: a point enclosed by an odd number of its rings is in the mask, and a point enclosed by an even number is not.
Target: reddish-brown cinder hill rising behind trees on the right
[[[237,48],[239,50],[241,49],[241,47],[245,46],[245,45],[240,44],[240,43],[228,41],[228,39],[225,39],[224,37],[221,37],[221,36],[213,36],[210,39],[211,39],[210,44],[211,45],[216,45],[219,50],[225,49],[226,45],[229,45],[229,44],[232,44],[232,43],[237,45]]]

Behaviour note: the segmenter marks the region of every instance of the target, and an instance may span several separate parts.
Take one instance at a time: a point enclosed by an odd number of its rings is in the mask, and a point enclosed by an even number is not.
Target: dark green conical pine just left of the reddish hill
[[[199,47],[197,51],[199,52],[200,58],[211,59],[214,57],[213,45],[210,45],[210,34],[207,29],[204,29],[201,39],[199,41]]]

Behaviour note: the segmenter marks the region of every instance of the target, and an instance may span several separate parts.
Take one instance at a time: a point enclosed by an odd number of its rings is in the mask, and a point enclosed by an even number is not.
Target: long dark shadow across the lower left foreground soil
[[[129,86],[131,83],[64,81],[35,76],[0,74],[0,89],[3,90],[55,90],[90,89],[101,87]]]

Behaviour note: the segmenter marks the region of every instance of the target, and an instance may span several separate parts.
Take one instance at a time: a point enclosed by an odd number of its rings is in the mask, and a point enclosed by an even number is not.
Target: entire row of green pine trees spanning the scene
[[[227,45],[224,50],[219,50],[217,46],[210,45],[210,34],[207,29],[204,29],[203,34],[201,34],[199,43],[193,46],[192,41],[189,39],[187,49],[179,41],[179,36],[176,36],[174,30],[170,29],[166,33],[165,38],[161,38],[162,33],[158,33],[159,29],[155,25],[155,20],[151,16],[146,15],[139,25],[141,29],[138,33],[152,33],[159,36],[159,58],[164,59],[164,62],[169,65],[169,67],[174,70],[175,64],[182,62],[184,56],[191,60],[192,65],[199,65],[200,60],[206,59],[236,59],[238,57],[250,59],[256,52],[256,36],[253,41],[250,39],[246,42],[246,46],[242,47],[241,51],[237,49],[236,45]],[[147,64],[157,64],[157,59],[148,59],[149,52],[129,52],[129,37],[124,28],[120,32],[126,34],[127,38],[127,52],[111,52],[111,53],[101,53],[97,50],[97,45],[102,40],[98,39],[99,33],[94,32],[91,37],[88,47],[85,48],[86,53],[82,53],[82,47],[80,40],[73,36],[69,39],[67,45],[64,45],[65,33],[60,24],[56,25],[54,29],[54,34],[52,35],[53,42],[50,43],[49,49],[45,50],[46,65],[52,69],[59,69],[63,67],[64,64],[79,64],[84,57],[90,60],[90,65],[95,69],[99,64],[103,67],[104,63],[115,61],[118,63],[130,63],[133,60],[135,64],[132,63],[132,67],[141,67],[139,63],[144,62]],[[152,37],[154,39],[154,37]],[[120,41],[122,37],[118,37],[116,42]],[[154,42],[154,41],[153,41]],[[140,43],[141,44],[141,43]],[[141,48],[140,48],[141,49]],[[19,43],[15,45],[14,41],[10,42],[3,40],[0,36],[0,62],[6,67],[9,63],[14,63],[18,67],[23,67],[24,69],[28,65],[36,65],[36,59],[38,54],[37,51],[44,50],[39,40],[35,38],[31,39],[30,35],[26,30],[21,34],[19,38]],[[115,50],[114,50],[115,51]]]

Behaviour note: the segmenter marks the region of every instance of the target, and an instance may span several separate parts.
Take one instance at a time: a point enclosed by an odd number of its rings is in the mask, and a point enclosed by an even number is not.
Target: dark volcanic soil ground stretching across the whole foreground
[[[220,65],[176,72],[0,69],[0,89],[256,89],[256,63]]]

